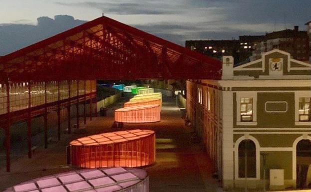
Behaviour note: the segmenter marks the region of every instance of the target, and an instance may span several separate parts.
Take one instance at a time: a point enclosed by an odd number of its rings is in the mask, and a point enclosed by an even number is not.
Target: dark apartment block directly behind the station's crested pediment
[[[292,58],[307,61],[309,60],[309,36],[307,31],[299,31],[298,26],[294,29],[285,29],[267,33],[260,43],[257,43],[251,60],[262,57],[262,53],[280,49],[291,53]]]

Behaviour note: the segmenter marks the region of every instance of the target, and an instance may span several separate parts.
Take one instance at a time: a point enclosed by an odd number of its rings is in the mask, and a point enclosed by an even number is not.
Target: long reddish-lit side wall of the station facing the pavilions
[[[200,82],[187,81],[187,117],[222,179],[222,91]]]

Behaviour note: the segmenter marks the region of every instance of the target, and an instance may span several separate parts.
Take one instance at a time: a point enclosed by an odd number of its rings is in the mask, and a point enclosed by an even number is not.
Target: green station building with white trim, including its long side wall
[[[311,64],[278,49],[187,81],[187,116],[224,189],[311,185]]]

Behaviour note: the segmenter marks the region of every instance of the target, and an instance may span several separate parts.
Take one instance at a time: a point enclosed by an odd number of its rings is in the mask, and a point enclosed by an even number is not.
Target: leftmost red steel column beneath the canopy
[[[10,147],[11,147],[11,136],[10,136],[10,98],[9,98],[9,83],[6,83],[6,95],[7,95],[7,118],[5,125],[5,155],[6,155],[6,172],[10,172]]]

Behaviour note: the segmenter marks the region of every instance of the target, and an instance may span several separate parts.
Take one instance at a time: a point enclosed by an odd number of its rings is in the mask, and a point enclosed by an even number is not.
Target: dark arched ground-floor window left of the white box
[[[239,178],[256,178],[256,145],[252,140],[239,144]]]

